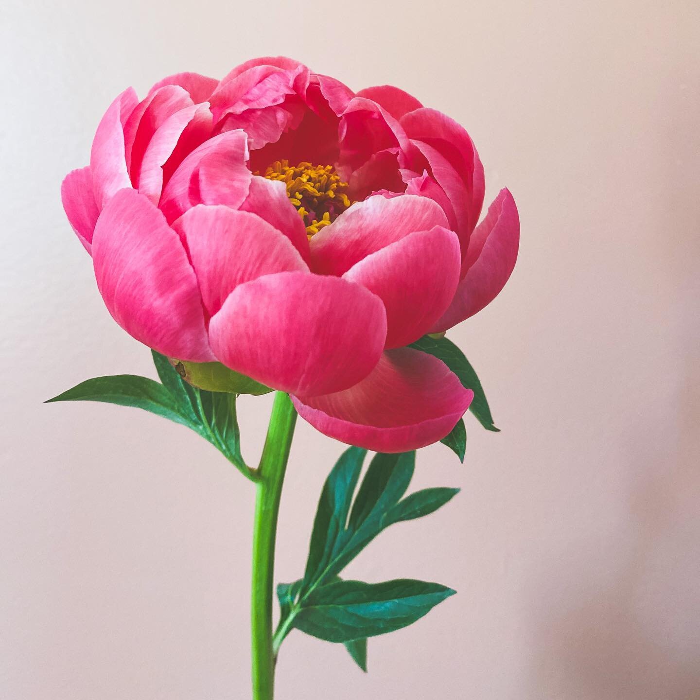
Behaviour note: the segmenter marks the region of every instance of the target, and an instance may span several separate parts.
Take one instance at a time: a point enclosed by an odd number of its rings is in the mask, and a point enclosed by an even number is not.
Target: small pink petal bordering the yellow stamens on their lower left
[[[304,260],[309,260],[306,227],[299,212],[289,201],[283,182],[263,177],[251,178],[248,197],[240,208],[241,211],[251,211],[272,224],[292,242]]]

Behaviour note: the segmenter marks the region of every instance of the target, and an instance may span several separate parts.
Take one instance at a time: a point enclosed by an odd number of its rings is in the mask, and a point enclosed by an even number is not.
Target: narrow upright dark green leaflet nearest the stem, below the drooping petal
[[[323,573],[335,549],[337,538],[344,532],[365,454],[365,449],[349,447],[325,480],[314,518],[314,529],[311,531],[309,557],[302,585],[304,590]]]

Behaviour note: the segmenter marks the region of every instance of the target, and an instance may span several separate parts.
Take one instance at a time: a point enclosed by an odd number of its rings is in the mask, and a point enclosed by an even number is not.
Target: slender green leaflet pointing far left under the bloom
[[[196,430],[186,410],[178,404],[167,387],[136,374],[87,379],[45,403],[55,401],[102,401],[133,406]]]

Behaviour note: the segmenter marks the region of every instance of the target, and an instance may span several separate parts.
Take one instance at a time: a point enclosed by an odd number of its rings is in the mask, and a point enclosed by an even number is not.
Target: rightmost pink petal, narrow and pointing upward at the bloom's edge
[[[489,213],[470,239],[462,261],[462,281],[444,316],[430,332],[442,332],[490,304],[503,289],[515,267],[520,222],[508,190],[500,190]]]

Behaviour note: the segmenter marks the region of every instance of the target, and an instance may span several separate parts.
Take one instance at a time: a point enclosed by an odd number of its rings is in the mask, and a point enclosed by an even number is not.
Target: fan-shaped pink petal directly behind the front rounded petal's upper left
[[[239,284],[273,272],[309,271],[288,238],[247,211],[198,204],[173,228],[185,241],[210,316]]]

